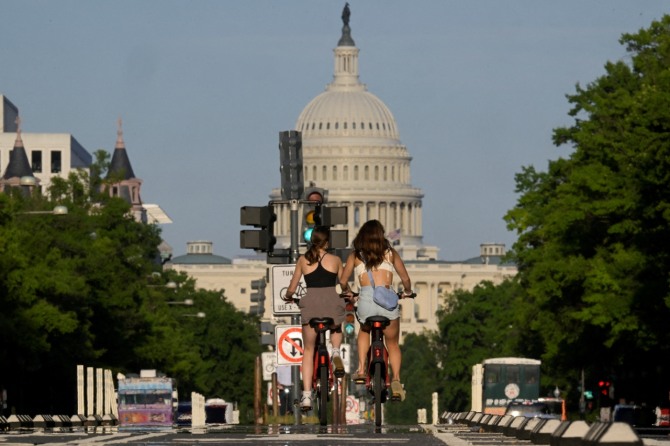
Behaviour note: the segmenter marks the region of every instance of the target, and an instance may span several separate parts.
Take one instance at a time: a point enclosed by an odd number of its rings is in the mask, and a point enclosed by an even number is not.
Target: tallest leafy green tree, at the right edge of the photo
[[[506,215],[542,359],[575,382],[613,379],[617,398],[667,396],[670,353],[670,17],[624,34],[630,55],[568,96],[573,148],[524,168]]]

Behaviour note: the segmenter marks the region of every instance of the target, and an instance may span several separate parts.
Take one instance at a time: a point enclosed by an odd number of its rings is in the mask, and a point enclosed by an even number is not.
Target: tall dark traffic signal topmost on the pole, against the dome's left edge
[[[302,136],[300,132],[279,132],[279,172],[283,200],[299,200],[305,189],[302,173]]]

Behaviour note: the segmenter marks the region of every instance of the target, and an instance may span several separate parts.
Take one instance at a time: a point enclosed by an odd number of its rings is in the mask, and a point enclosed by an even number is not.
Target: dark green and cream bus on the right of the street
[[[490,358],[472,366],[472,410],[504,415],[515,399],[540,396],[539,359]]]

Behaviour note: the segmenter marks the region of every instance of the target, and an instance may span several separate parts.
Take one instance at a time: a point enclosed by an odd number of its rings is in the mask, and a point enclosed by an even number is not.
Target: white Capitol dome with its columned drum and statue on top
[[[305,187],[323,188],[328,206],[347,208],[348,223],[334,229],[347,231],[348,246],[364,222],[378,219],[403,258],[437,258],[437,248],[423,243],[423,192],[412,185],[412,157],[395,118],[359,80],[348,5],[342,20],[342,36],[333,50],[333,80],[303,108],[295,125],[302,139]],[[277,202],[276,246],[286,249],[291,246],[292,205],[281,198],[280,189],[270,194]]]

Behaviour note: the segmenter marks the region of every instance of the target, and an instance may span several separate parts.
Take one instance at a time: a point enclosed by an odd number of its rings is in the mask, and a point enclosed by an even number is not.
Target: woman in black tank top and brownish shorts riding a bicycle
[[[304,353],[302,357],[302,398],[303,410],[312,408],[312,375],[314,373],[314,345],[317,332],[309,326],[309,320],[315,317],[333,318],[330,330],[330,342],[333,345],[333,366],[337,372],[344,373],[344,364],[340,357],[342,343],[342,322],[344,321],[344,299],[335,290],[339,275],[342,273],[342,260],[328,254],[330,229],[316,226],[312,231],[311,246],[300,256],[295,265],[291,283],[286,291],[286,299],[292,299],[301,277],[305,277],[306,295],[297,304],[300,307],[302,339]]]

